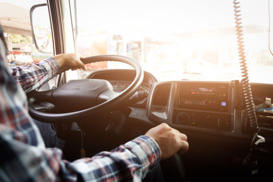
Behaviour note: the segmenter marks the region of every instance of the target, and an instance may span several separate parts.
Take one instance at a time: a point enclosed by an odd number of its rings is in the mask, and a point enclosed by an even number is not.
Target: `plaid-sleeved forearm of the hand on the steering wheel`
[[[11,74],[23,90],[28,93],[43,86],[56,76],[59,64],[54,58],[39,63],[11,68]]]

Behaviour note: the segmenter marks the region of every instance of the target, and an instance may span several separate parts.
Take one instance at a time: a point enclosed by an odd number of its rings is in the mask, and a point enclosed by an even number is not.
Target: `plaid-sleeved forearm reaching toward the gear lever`
[[[140,136],[110,152],[100,152],[68,164],[84,181],[141,181],[161,159],[157,143]]]

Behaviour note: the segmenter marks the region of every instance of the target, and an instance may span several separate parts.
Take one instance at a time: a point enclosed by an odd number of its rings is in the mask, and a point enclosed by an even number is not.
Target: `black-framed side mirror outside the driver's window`
[[[41,53],[52,54],[52,31],[46,3],[31,7],[30,23],[36,49]]]

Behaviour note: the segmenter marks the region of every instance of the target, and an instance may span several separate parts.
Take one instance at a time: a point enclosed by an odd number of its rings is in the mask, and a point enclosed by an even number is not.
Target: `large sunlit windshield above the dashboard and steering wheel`
[[[241,80],[231,0],[71,1],[76,50],[136,59],[158,81]],[[250,82],[271,83],[267,0],[241,0]],[[129,68],[100,62],[97,69]],[[79,72],[80,77],[86,73]]]

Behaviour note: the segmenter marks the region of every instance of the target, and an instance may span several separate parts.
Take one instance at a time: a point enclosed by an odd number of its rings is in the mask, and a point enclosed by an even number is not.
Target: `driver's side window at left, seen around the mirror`
[[[53,56],[52,53],[41,53],[36,49],[30,23],[30,8],[37,3],[46,3],[46,0],[3,0],[1,2],[0,24],[8,49],[7,65],[9,67],[31,65]],[[51,50],[46,52],[52,52],[49,15],[47,7],[44,9],[46,11],[40,10],[35,14],[35,36],[39,40],[39,45]],[[46,87],[51,88],[54,85],[53,80]]]

